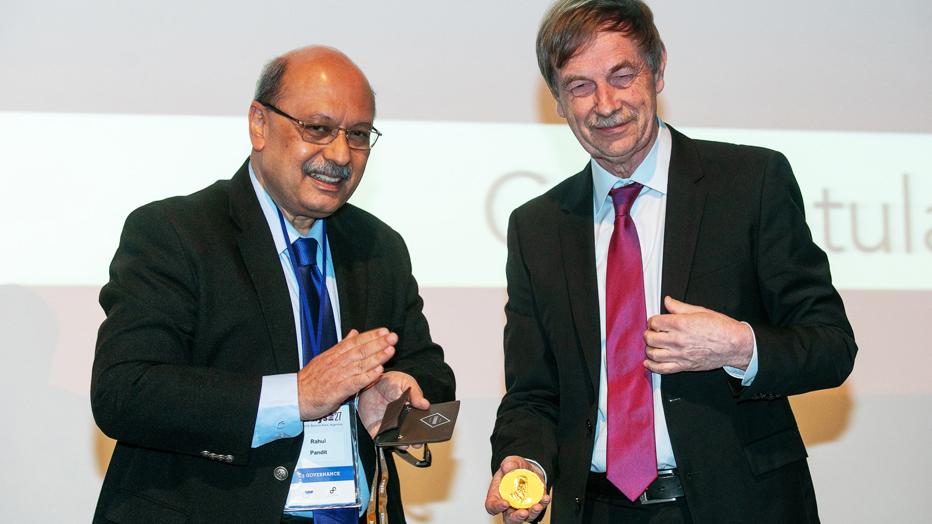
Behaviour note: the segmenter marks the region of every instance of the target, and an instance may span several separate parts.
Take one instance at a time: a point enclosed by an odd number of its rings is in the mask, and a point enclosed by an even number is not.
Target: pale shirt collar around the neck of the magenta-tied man
[[[596,159],[590,160],[592,165],[592,185],[593,185],[593,210],[594,216],[598,216],[602,206],[608,205],[609,191],[615,186],[627,186],[632,182],[647,187],[659,195],[666,194],[666,180],[670,168],[670,149],[672,146],[672,137],[670,130],[660,117],[657,117],[660,129],[657,131],[657,138],[651,145],[651,151],[647,157],[637,166],[635,172],[631,173],[630,178],[620,178],[608,172],[603,168]]]

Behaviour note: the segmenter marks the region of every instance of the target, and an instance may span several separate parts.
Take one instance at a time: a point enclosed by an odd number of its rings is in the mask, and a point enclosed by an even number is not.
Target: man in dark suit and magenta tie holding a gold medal
[[[787,159],[660,120],[666,51],[639,0],[560,0],[537,51],[592,160],[510,220],[487,512],[817,522],[787,396],[841,384],[857,346]],[[552,502],[500,497],[519,467]]]

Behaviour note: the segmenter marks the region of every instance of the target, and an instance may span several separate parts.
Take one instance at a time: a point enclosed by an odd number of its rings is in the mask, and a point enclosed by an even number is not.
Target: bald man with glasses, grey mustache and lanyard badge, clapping
[[[286,53],[257,83],[240,170],[130,214],[101,292],[91,406],[117,447],[95,523],[359,522],[386,405],[408,388],[415,407],[453,399],[404,241],[346,203],[375,112],[343,53]],[[347,399],[358,417],[341,423]],[[302,503],[324,474],[299,456],[328,453],[349,457],[326,475],[350,497],[358,477],[363,507]]]

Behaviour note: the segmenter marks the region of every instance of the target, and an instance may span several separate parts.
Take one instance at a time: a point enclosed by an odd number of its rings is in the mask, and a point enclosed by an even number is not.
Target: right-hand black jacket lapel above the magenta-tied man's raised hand
[[[669,126],[668,126],[669,127]],[[664,227],[664,269],[661,283],[661,311],[664,296],[678,300],[686,297],[692,258],[695,255],[699,224],[706,203],[703,171],[692,140],[674,130],[667,180],[666,218]]]

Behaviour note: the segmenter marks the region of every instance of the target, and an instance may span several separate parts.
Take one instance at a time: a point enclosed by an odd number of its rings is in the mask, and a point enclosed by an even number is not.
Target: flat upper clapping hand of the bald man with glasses
[[[312,358],[297,372],[297,405],[302,421],[336,411],[382,374],[395,354],[398,336],[380,327],[365,333],[352,329],[336,346]]]

